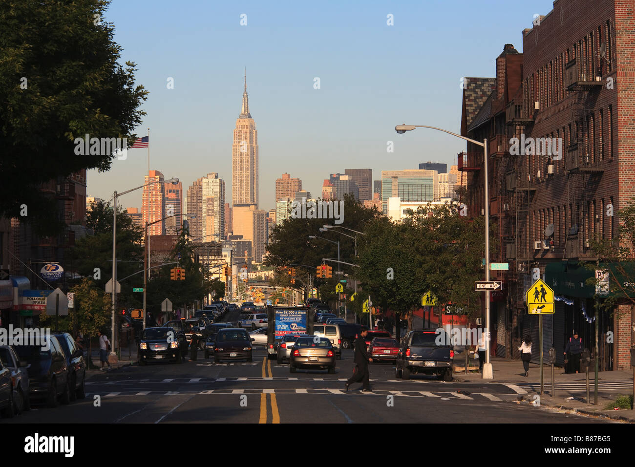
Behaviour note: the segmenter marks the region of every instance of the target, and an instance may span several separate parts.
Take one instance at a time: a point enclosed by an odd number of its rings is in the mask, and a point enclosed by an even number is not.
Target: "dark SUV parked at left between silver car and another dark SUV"
[[[48,407],[57,407],[58,398],[70,403],[69,366],[57,337],[51,335],[50,348],[41,346],[13,346],[20,360],[30,363],[29,398],[44,399]]]

